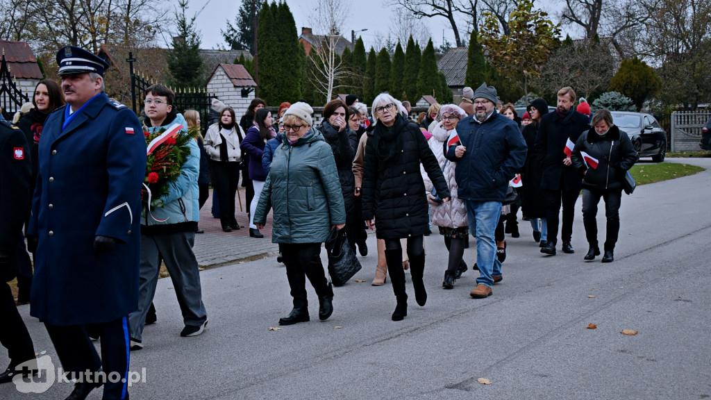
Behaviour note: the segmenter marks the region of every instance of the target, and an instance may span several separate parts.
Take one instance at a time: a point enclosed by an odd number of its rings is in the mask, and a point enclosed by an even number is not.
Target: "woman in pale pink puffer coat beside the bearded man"
[[[437,193],[432,194],[432,182],[427,178],[422,166],[422,179],[424,188],[427,191],[427,201],[432,207],[432,223],[439,227],[439,233],[444,236],[444,245],[449,251],[449,263],[444,271],[444,282],[442,288],[454,288],[454,280],[459,279],[461,273],[467,270],[464,256],[467,238],[469,236],[469,221],[466,218],[466,206],[464,201],[457,195],[457,184],[454,179],[456,162],[451,162],[444,157],[444,147],[449,140],[456,141],[456,124],[466,117],[466,112],[461,107],[454,104],[443,105],[439,110],[442,121],[432,130],[432,138],[429,140],[429,148],[432,149],[434,157],[437,158],[439,167],[442,168],[444,179],[447,181],[451,193],[451,201],[442,203],[438,201]]]

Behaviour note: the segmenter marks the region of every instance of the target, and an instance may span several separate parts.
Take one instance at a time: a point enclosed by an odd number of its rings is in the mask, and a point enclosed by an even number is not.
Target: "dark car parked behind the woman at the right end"
[[[632,140],[639,157],[663,162],[666,157],[666,132],[651,115],[643,112],[612,111],[612,122]]]

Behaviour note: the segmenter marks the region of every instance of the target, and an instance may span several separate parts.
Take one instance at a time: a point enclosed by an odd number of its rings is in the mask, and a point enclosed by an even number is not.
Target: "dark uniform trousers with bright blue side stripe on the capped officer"
[[[112,377],[104,384],[103,399],[128,399],[128,323],[128,317],[122,317],[102,324],[67,326],[45,324],[45,326],[62,362],[62,368],[65,372],[70,372],[68,379],[79,379],[80,372],[83,377],[87,369],[90,372],[102,369],[107,377],[109,375]],[[89,330],[92,333],[96,332],[100,337],[101,358],[89,338]]]

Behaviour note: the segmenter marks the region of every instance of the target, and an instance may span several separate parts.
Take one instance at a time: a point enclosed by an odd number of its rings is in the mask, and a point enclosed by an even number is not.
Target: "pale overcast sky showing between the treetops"
[[[177,4],[176,0],[169,0],[169,4]],[[543,0],[536,1],[536,7],[543,9],[549,13],[555,11],[557,7],[553,7],[556,0]],[[314,33],[322,33],[321,29],[316,26],[312,26],[309,15],[314,13],[316,8],[315,0],[287,0],[289,9],[292,10],[294,14],[294,21],[296,21],[296,31],[301,33],[302,26],[311,26],[314,28]],[[375,46],[378,43],[378,37],[387,37],[388,26],[390,25],[390,16],[392,16],[392,7],[383,6],[383,0],[357,0],[350,1],[351,17],[346,21],[344,26],[341,28],[343,36],[351,40],[351,30],[358,31],[360,29],[368,29],[368,31],[356,33],[355,37],[363,37],[365,42],[365,50],[368,51],[370,46]],[[206,0],[204,9],[201,11],[201,7],[205,4],[205,0],[196,1],[192,0],[188,9],[188,16],[198,13],[196,19],[196,26],[198,31],[202,35],[202,45],[201,48],[224,48],[226,47],[223,36],[220,34],[220,29],[225,29],[226,20],[229,19],[230,22],[235,20],[237,11],[239,11],[242,5],[242,0]],[[556,21],[557,18],[552,18]],[[429,32],[432,34],[432,42],[437,48],[442,44],[442,37],[452,43],[454,46],[454,35],[451,31],[451,26],[449,22],[442,17],[435,18],[425,18],[421,20],[422,23],[426,24],[429,28]],[[464,37],[466,29],[466,24],[461,21],[460,25],[460,35],[462,35],[463,40],[469,40],[469,37]],[[380,42],[382,43],[382,42]],[[161,43],[163,45],[164,43]],[[403,46],[405,43],[403,43]],[[377,51],[378,49],[376,49]]]

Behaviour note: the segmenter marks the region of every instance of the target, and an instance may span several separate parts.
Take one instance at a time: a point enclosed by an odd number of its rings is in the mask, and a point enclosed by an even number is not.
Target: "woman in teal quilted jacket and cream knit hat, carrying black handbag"
[[[284,114],[286,130],[282,144],[274,150],[267,181],[260,196],[254,222],[264,227],[269,209],[274,208],[272,242],[279,243],[294,309],[279,325],[309,320],[306,278],[319,296],[319,319],[333,312],[333,290],[321,264],[321,243],[332,228],[346,225],[341,183],[331,146],[311,128],[314,110],[296,102]]]

